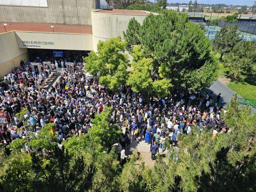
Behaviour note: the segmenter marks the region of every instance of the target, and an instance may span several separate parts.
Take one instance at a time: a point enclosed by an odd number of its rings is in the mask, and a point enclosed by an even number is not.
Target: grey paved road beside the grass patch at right
[[[221,93],[221,99],[220,99],[220,105],[223,105],[224,108],[227,105],[228,102],[232,99],[232,96],[236,94],[236,92],[232,91],[229,87],[227,87],[225,84],[222,84],[219,80],[215,81],[208,89],[208,92],[213,92],[213,98],[216,99],[219,93]],[[237,94],[237,97],[240,98],[242,96],[239,96]],[[244,106],[244,105],[240,105]],[[251,108],[252,113],[256,112],[256,108]]]

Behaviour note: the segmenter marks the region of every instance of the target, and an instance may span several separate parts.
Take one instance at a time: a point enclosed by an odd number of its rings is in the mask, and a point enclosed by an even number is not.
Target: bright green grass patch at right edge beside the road
[[[256,100],[256,86],[247,83],[230,82],[228,87],[235,91],[238,95]]]

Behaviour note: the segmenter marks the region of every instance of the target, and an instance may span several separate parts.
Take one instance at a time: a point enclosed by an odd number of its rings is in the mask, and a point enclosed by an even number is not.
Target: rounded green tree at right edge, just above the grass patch
[[[232,80],[256,82],[256,41],[243,41],[224,57]]]

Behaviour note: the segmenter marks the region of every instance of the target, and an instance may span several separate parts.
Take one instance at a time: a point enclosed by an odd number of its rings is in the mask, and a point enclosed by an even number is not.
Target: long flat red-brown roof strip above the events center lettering
[[[51,25],[54,26],[55,33],[75,33],[75,34],[92,34],[92,26],[81,26],[71,24],[39,24],[39,23],[12,23],[12,22],[0,22],[0,33],[5,33],[4,23],[6,31],[33,31],[33,32],[53,32]]]

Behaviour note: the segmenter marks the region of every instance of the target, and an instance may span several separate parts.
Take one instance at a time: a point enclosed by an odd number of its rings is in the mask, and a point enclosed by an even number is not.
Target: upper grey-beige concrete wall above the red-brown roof
[[[48,7],[0,5],[1,22],[91,25],[99,0],[47,0]]]

